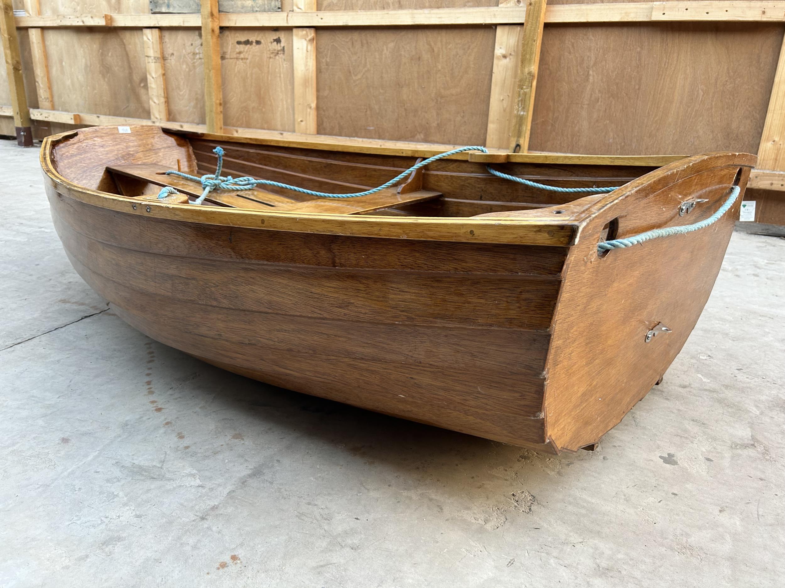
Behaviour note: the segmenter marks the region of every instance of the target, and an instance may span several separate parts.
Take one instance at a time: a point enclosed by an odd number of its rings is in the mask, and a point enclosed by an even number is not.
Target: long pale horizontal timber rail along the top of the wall
[[[408,10],[329,10],[323,12],[221,13],[221,27],[433,27],[522,24],[525,8],[488,6]],[[785,22],[785,2],[713,0],[710,2],[612,2],[557,4],[546,9],[547,23],[634,22]],[[192,14],[98,14],[16,16],[17,28],[125,27],[199,28]]]

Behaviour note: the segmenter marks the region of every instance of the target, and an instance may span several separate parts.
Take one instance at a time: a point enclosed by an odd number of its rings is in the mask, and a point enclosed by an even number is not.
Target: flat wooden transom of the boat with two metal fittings
[[[597,256],[603,227],[625,238],[710,216],[754,157],[696,157],[643,176],[595,205],[565,264],[546,365],[546,429],[556,448],[596,442],[651,389],[684,345],[717,278],[743,198],[707,229]],[[681,201],[707,198],[688,216]],[[657,260],[657,263],[652,263]],[[672,332],[645,342],[659,322]]]

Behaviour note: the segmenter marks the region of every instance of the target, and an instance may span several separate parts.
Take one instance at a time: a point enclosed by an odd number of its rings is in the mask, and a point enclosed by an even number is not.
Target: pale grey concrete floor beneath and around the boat
[[[559,457],[268,387],[136,332],[0,141],[0,586],[783,586],[785,240]]]

